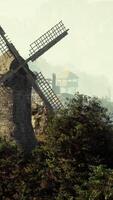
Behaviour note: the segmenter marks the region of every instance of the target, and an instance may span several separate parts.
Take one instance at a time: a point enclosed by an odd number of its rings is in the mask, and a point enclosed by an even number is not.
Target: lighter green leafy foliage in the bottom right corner
[[[77,200],[112,200],[113,199],[113,170],[105,166],[93,166],[89,179],[78,187]]]

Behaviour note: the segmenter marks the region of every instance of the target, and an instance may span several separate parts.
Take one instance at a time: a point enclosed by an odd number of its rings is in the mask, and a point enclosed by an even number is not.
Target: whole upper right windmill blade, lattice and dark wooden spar
[[[62,21],[52,27],[49,31],[47,31],[44,35],[42,35],[39,39],[34,41],[30,47],[30,59],[31,61],[36,60],[42,54],[44,54],[48,49],[58,43],[62,38],[64,38],[68,34],[68,30],[66,29]]]

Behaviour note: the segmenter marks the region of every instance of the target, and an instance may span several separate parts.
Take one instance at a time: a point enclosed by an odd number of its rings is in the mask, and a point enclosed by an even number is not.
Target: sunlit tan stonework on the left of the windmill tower
[[[8,72],[13,60],[7,54],[0,57],[0,77]],[[14,131],[13,93],[10,87],[0,86],[0,136],[10,138]]]

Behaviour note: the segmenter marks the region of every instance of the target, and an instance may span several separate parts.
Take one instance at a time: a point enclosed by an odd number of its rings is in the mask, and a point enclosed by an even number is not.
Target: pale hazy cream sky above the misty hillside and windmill
[[[0,0],[0,23],[25,58],[29,44],[60,20],[69,34],[41,59],[53,71],[101,77],[113,97],[113,0]]]

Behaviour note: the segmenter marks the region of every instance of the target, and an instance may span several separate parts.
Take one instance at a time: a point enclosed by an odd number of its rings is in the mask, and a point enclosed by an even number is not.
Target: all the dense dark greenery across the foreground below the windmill
[[[31,155],[0,140],[3,200],[112,200],[113,125],[96,98],[75,95],[52,115]]]

